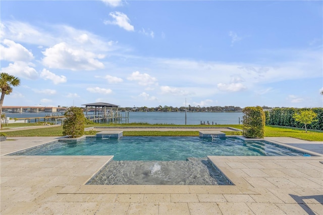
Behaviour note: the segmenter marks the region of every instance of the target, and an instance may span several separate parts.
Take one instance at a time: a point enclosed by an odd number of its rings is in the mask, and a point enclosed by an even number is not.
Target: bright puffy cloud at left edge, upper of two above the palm
[[[34,59],[32,53],[24,46],[9,39],[4,39],[3,44],[0,44],[0,59],[5,61],[25,61],[29,62]]]

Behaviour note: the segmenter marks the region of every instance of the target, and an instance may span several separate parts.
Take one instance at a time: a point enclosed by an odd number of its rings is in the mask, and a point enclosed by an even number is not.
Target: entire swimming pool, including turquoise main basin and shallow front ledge
[[[233,185],[207,156],[303,156],[263,140],[226,137],[86,137],[9,155],[114,155],[88,185]]]

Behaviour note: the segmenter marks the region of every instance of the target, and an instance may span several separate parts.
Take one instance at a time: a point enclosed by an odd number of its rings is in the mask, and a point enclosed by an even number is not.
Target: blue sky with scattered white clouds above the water
[[[323,107],[322,1],[0,1],[4,106]]]

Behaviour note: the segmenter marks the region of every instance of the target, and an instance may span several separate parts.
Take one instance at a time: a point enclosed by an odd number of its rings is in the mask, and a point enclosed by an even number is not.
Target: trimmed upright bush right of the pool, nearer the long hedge
[[[263,138],[265,114],[260,106],[246,107],[242,110],[243,136],[249,138]]]

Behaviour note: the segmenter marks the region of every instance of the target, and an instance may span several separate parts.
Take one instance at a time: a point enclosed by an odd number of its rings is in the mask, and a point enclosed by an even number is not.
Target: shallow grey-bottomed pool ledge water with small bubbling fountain
[[[113,160],[90,185],[232,185],[207,158],[142,161]]]

